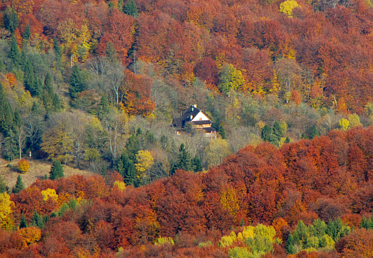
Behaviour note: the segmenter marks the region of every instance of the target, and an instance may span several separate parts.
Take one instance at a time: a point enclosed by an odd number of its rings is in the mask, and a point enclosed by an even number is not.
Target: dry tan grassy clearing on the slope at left
[[[0,175],[5,179],[8,187],[12,189],[15,186],[17,181],[17,177],[20,174],[17,169],[17,163],[19,159],[12,160],[10,163],[8,161],[0,159]],[[50,167],[52,163],[46,160],[29,160],[30,162],[30,169],[25,174],[21,174],[22,181],[25,184],[25,187],[30,186],[34,183],[38,178],[44,178],[45,175],[49,176]],[[10,166],[8,166],[10,164]],[[15,168],[12,168],[15,167]],[[64,167],[64,174],[65,176],[73,176],[75,174],[88,176],[94,174],[93,172],[75,169],[73,167],[68,167],[62,165]]]

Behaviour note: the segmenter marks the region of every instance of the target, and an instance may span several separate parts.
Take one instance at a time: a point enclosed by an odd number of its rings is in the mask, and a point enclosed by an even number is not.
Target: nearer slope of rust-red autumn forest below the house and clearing
[[[372,133],[248,146],[208,172],[178,170],[135,189],[117,172],[38,180],[0,195],[1,225],[15,228],[1,231],[0,253],[371,257]]]

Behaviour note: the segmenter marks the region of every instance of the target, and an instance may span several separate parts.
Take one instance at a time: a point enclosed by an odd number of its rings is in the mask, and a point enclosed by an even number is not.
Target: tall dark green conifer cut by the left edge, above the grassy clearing
[[[0,133],[8,137],[14,124],[14,113],[10,106],[3,88],[0,83]]]

